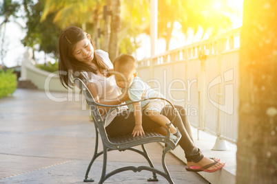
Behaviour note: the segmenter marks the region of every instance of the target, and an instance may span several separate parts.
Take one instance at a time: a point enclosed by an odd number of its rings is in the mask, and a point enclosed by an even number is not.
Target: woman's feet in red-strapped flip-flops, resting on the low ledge
[[[215,163],[216,162],[216,163]],[[212,165],[212,163],[214,163],[214,165]],[[200,168],[203,168],[205,167],[206,165],[209,165],[211,164],[212,166],[209,167],[209,168],[206,168],[205,171],[213,171],[213,170],[218,170],[220,168],[223,168],[225,166],[226,163],[221,163],[220,162],[220,159],[217,159],[217,158],[212,158],[212,159],[209,159],[208,157],[203,157],[203,159],[199,162],[187,162],[187,167],[186,168],[190,168],[192,166],[196,166],[197,167],[200,167]]]

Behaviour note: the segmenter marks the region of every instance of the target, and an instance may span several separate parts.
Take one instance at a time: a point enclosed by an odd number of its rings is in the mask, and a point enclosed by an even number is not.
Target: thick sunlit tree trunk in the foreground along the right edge
[[[277,183],[276,0],[245,0],[236,183]]]

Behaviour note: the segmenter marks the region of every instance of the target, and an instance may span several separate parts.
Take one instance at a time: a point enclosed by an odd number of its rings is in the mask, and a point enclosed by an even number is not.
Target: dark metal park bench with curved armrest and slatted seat
[[[174,142],[170,140],[170,130],[169,126],[172,124],[174,121],[175,117],[172,119],[172,122],[170,124],[167,124],[167,135],[161,135],[160,133],[157,133],[156,131],[145,131],[145,135],[143,136],[138,136],[138,137],[133,137],[132,134],[128,135],[121,135],[121,136],[116,136],[116,137],[111,137],[107,135],[105,131],[105,119],[109,113],[112,111],[116,110],[119,106],[123,106],[125,104],[120,104],[120,105],[104,105],[104,104],[99,104],[94,101],[94,98],[92,97],[92,94],[88,90],[88,87],[86,87],[85,83],[80,80],[79,78],[74,78],[74,82],[79,89],[81,89],[83,95],[85,96],[85,99],[88,103],[88,106],[90,106],[90,111],[92,118],[94,120],[94,126],[95,126],[95,134],[96,134],[96,143],[95,143],[95,150],[94,150],[94,155],[92,157],[92,160],[90,161],[90,164],[88,165],[88,170],[85,173],[85,179],[83,180],[84,182],[93,182],[93,179],[89,179],[89,172],[90,168],[92,167],[92,163],[94,163],[95,159],[103,154],[103,168],[102,168],[102,174],[101,174],[101,179],[99,183],[103,183],[106,179],[108,179],[110,176],[113,176],[114,174],[117,174],[119,172],[127,171],[127,170],[132,170],[133,172],[141,172],[142,170],[147,170],[152,172],[153,178],[148,179],[147,181],[158,181],[156,174],[160,174],[163,176],[169,183],[174,184],[174,182],[171,179],[170,172],[167,170],[167,166],[165,164],[165,154],[169,152],[170,150],[174,150],[176,148],[176,145],[178,142]],[[148,98],[145,100],[149,99],[154,99],[154,98]],[[165,100],[165,99],[163,99]],[[141,102],[143,100],[139,100],[137,102]],[[166,100],[169,102],[168,100]],[[133,102],[134,103],[134,102]],[[172,109],[174,111],[175,108],[171,102],[169,102],[170,105],[172,106]],[[132,104],[132,103],[130,103]],[[110,111],[105,115],[105,117],[102,119],[101,114],[99,113],[99,108],[98,106],[108,106],[110,107]],[[175,115],[175,112],[174,112]],[[102,143],[103,143],[103,151],[98,150],[98,145],[99,145],[99,135],[101,137]],[[165,147],[163,149],[163,152],[161,152],[161,161],[163,165],[163,171],[158,170],[154,168],[154,165],[150,159],[150,157],[147,154],[147,151],[145,149],[144,144],[145,143],[152,143],[152,142],[161,142],[164,143]],[[141,146],[142,151],[136,148],[133,148],[134,146]],[[131,150],[134,152],[137,152],[141,154],[147,162],[149,163],[150,166],[139,166],[139,167],[134,167],[134,166],[127,166],[123,168],[119,168],[116,170],[113,170],[112,172],[106,173],[106,166],[107,166],[107,152],[110,152],[111,150],[119,150],[119,151],[125,151],[125,150]]]

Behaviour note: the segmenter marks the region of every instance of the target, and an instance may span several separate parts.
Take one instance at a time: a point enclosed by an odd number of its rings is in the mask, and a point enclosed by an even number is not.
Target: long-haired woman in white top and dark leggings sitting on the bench
[[[96,102],[115,105],[121,104],[121,101],[128,100],[127,95],[123,99],[118,98],[121,95],[121,91],[116,86],[114,76],[110,75],[113,65],[107,53],[102,50],[96,50],[90,34],[85,33],[79,27],[68,27],[59,37],[59,70],[65,71],[59,74],[63,87],[71,88],[73,84],[70,82],[70,78],[72,78],[72,75],[78,76],[78,78],[86,82]],[[172,119],[170,108],[170,106],[165,106],[161,114]],[[176,115],[173,124],[178,127],[182,134],[182,138],[178,143],[185,152],[187,159],[186,170],[215,172],[223,168],[225,163],[220,163],[218,159],[205,157],[201,150],[195,147],[185,109],[182,106],[176,106],[176,108],[179,114]],[[99,110],[104,115],[108,109],[99,107]],[[113,113],[112,116],[107,118],[105,126],[108,135],[132,133],[135,125],[134,114],[126,113],[127,111],[125,110],[123,107],[119,113]],[[142,114],[144,130],[161,129],[159,124],[151,121],[145,113]]]

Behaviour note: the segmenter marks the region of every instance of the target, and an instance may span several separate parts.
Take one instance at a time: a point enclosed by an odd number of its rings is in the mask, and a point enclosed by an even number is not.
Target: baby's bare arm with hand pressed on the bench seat
[[[143,131],[143,123],[142,123],[142,117],[141,117],[141,102],[136,102],[133,104],[134,106],[134,130],[132,132],[133,137],[144,135]]]

